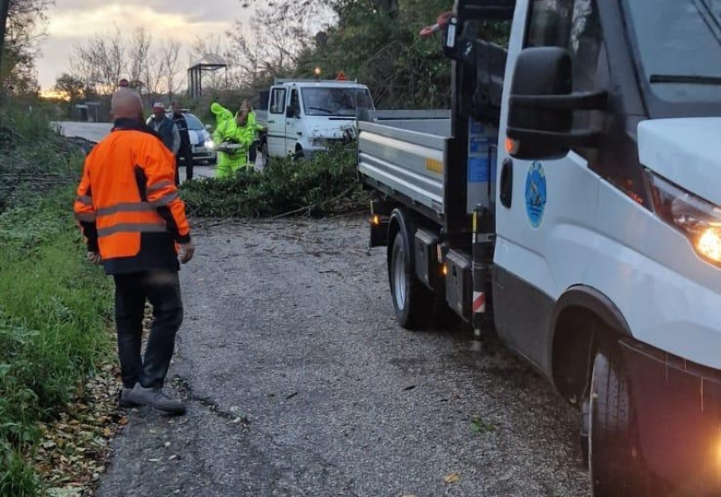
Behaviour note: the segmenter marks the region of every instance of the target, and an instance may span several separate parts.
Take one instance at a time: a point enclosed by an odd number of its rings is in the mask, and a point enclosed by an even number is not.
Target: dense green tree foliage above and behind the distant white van
[[[450,104],[450,63],[437,38],[421,38],[424,25],[452,8],[452,0],[285,0],[272,7],[258,5],[257,39],[287,39],[275,23],[259,23],[266,10],[294,25],[297,56],[293,68],[260,65],[260,73],[323,77],[343,72],[370,86],[384,108],[443,107]],[[301,21],[302,20],[302,21]],[[273,26],[272,28],[270,26]],[[247,46],[251,47],[252,45]],[[247,50],[247,49],[246,49]],[[258,74],[259,66],[256,65]]]

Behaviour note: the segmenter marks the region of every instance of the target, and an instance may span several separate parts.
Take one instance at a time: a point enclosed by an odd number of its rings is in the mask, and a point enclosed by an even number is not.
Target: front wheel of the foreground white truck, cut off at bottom
[[[594,497],[651,495],[650,475],[638,450],[629,384],[616,348],[601,348],[594,359],[588,416]]]

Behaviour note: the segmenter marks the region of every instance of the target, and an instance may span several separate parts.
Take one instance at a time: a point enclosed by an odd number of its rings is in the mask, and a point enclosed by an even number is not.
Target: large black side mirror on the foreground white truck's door
[[[516,59],[507,136],[515,158],[552,158],[593,147],[600,131],[573,131],[573,113],[604,110],[607,92],[573,92],[570,53],[558,47],[521,51]]]

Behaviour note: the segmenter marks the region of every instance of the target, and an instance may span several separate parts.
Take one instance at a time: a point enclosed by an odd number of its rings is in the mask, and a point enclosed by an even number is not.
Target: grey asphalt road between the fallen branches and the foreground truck
[[[399,328],[363,220],[199,222],[187,416],[130,412],[98,495],[589,495],[576,412],[452,322]]]

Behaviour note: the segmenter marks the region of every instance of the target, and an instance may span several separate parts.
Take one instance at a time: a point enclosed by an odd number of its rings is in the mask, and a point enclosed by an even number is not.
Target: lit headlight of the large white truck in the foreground
[[[721,207],[649,173],[653,210],[684,233],[698,255],[721,266]]]

